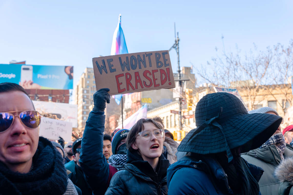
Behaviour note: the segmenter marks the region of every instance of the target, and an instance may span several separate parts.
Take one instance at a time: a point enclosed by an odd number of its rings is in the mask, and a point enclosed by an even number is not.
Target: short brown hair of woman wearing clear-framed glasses
[[[135,141],[137,134],[139,132],[142,132],[144,130],[144,123],[146,122],[151,122],[155,125],[155,127],[157,127],[158,129],[162,129],[163,127],[161,127],[161,125],[159,123],[157,123],[154,119],[151,118],[141,118],[139,119],[131,128],[131,130],[129,131],[127,137],[126,137],[126,148],[127,150],[129,150],[130,152],[134,152],[136,150],[134,150],[131,145],[133,144],[133,142]]]

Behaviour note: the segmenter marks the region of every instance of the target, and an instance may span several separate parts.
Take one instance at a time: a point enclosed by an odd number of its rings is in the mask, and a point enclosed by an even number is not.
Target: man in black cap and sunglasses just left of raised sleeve
[[[81,140],[82,138],[79,138],[72,144],[73,161],[75,163],[75,167],[74,171],[71,172],[68,177],[77,187],[81,189],[83,195],[92,195],[93,191],[86,182],[84,178],[84,172],[82,171],[79,164],[79,155],[81,153]]]

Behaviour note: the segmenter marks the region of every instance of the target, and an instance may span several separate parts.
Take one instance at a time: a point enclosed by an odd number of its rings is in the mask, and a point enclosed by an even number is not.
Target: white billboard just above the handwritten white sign
[[[57,118],[71,122],[72,127],[77,128],[77,105],[35,100],[33,100],[33,104],[39,113],[56,115]]]

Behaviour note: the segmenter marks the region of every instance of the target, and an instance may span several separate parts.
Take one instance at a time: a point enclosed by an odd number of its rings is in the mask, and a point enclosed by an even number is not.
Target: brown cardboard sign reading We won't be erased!
[[[151,51],[93,58],[96,89],[125,94],[175,87],[169,51]]]

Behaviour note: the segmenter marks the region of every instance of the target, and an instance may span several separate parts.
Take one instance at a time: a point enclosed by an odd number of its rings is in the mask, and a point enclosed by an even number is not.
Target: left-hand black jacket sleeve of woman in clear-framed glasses
[[[119,172],[115,173],[110,181],[110,186],[107,189],[105,195],[119,195],[119,194],[128,194],[127,189],[124,185],[125,181],[123,181],[118,174]]]

